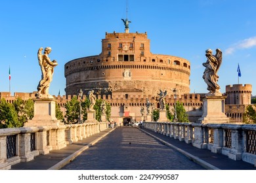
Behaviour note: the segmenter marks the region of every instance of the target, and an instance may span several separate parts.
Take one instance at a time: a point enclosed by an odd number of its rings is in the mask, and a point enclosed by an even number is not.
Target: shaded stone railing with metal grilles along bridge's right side
[[[144,122],[143,127],[256,167],[256,125]]]

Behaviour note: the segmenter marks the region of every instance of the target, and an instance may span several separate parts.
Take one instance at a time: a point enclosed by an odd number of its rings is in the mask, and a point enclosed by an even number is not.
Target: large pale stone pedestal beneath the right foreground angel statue
[[[224,114],[225,96],[206,95],[203,98],[203,115],[198,119],[200,124],[224,124],[229,118]]]

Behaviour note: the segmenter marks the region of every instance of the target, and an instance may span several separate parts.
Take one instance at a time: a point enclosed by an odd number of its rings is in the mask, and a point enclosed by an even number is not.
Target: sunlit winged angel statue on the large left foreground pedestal
[[[52,95],[49,95],[49,86],[51,81],[53,80],[53,68],[58,65],[56,60],[51,61],[49,58],[49,54],[52,49],[50,47],[46,47],[44,53],[42,54],[43,48],[39,48],[37,52],[37,58],[39,61],[39,65],[41,67],[41,80],[37,86],[37,93],[35,97],[38,99],[53,99]]]

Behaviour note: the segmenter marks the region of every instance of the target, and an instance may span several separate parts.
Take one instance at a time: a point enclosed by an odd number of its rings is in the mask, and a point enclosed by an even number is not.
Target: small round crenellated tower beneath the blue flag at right
[[[250,105],[251,84],[233,84],[226,86],[226,105]]]

